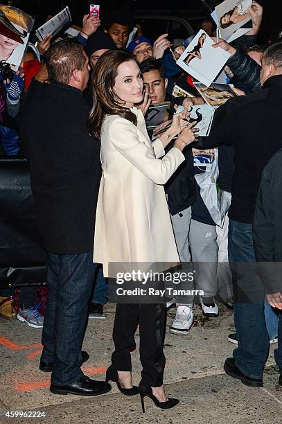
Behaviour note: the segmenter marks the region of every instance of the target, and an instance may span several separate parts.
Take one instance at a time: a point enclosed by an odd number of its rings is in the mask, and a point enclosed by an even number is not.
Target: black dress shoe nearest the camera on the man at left
[[[50,386],[50,391],[54,394],[76,394],[79,396],[98,396],[107,393],[112,389],[112,386],[104,381],[91,380],[87,376],[82,376],[80,380],[70,383],[65,386]]]

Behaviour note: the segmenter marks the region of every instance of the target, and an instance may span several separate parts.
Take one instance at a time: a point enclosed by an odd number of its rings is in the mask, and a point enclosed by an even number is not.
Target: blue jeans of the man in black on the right
[[[270,339],[265,326],[265,292],[255,272],[252,224],[229,220],[228,255],[234,295],[239,298],[234,302],[238,348],[233,357],[246,376],[261,379]]]

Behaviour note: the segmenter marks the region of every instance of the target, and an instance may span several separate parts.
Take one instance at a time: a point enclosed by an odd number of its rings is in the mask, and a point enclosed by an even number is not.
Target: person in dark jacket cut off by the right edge
[[[282,386],[282,149],[267,163],[254,212],[254,250],[267,301],[279,309],[278,348],[274,351]]]

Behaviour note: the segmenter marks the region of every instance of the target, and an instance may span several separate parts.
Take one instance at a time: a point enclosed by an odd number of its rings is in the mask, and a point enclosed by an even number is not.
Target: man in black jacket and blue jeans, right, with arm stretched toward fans
[[[233,113],[219,125],[213,125],[211,135],[204,141],[205,147],[234,146],[228,242],[236,294],[234,321],[238,348],[233,351],[233,358],[225,362],[224,370],[250,387],[263,385],[269,349],[263,315],[265,293],[252,265],[255,262],[252,223],[263,168],[282,147],[281,43],[269,46],[263,55],[261,85],[263,89],[255,94],[233,99],[232,105],[236,106]],[[227,106],[224,109],[226,112]]]

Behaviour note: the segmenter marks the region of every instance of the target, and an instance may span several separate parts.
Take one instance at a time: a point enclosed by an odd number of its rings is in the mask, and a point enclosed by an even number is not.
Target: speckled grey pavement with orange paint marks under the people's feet
[[[82,369],[91,378],[104,380],[113,351],[114,305],[105,306],[106,319],[90,319],[83,349],[90,355]],[[168,311],[168,326],[175,309]],[[145,398],[146,413],[139,396],[120,394],[115,383],[103,396],[58,396],[49,391],[49,373],[38,370],[42,351],[41,329],[17,319],[0,319],[0,422],[3,423],[97,423],[97,424],[270,424],[282,423],[282,387],[270,346],[265,366],[264,387],[251,389],[226,376],[224,360],[235,345],[227,341],[233,315],[220,306],[220,316],[208,319],[195,307],[195,326],[186,336],[166,332],[166,394],[179,398],[177,407],[162,411]],[[139,333],[132,353],[133,379],[140,380]],[[38,418],[8,418],[6,412],[36,412]],[[31,414],[32,415],[32,414]]]

